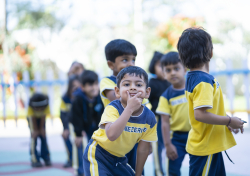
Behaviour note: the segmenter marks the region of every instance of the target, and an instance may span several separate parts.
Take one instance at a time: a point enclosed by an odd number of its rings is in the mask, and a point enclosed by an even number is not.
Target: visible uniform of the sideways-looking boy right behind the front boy
[[[101,80],[100,82],[100,95],[101,95],[101,99],[103,102],[104,107],[106,107],[110,101],[109,99],[106,97],[104,91],[105,90],[115,90],[116,87],[116,77],[115,76],[109,76],[109,77],[105,77]],[[142,104],[145,105],[148,103],[148,99],[144,99]],[[137,147],[138,144],[136,144],[133,148],[133,150],[131,150],[129,153],[126,154],[126,157],[128,158],[128,163],[129,165],[135,169],[135,165],[136,165],[136,153],[137,153]],[[143,171],[144,173],[144,171]]]

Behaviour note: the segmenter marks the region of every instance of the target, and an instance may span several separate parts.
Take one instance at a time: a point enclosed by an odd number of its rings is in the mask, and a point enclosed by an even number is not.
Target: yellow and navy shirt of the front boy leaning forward
[[[110,141],[106,135],[104,124],[115,122],[123,111],[124,108],[120,100],[112,101],[105,108],[99,123],[99,129],[92,136],[92,139],[97,141],[103,149],[117,157],[124,157],[140,140],[147,142],[158,140],[155,115],[144,106],[139,116],[129,118],[122,134],[115,141]]]

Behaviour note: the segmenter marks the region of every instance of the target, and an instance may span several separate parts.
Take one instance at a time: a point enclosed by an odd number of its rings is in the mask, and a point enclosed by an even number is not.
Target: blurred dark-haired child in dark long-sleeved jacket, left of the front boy
[[[95,130],[101,119],[104,107],[99,95],[98,75],[90,70],[86,70],[80,76],[81,88],[74,93],[70,118],[75,132],[75,144],[77,147],[78,175],[83,175],[82,155],[84,151],[83,137],[88,140]],[[73,156],[73,160],[74,160]]]

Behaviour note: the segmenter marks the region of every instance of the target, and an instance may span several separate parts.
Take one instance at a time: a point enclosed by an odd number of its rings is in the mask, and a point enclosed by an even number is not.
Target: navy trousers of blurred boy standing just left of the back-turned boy
[[[187,154],[186,143],[187,143],[188,133],[186,132],[173,132],[173,138],[171,139],[172,144],[176,147],[178,158],[173,160],[168,160],[168,173],[169,176],[180,176],[181,164]]]

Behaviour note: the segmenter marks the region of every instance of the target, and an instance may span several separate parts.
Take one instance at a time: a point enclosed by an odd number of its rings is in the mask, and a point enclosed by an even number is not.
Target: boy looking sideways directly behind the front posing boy
[[[135,65],[136,55],[137,51],[135,46],[123,39],[112,40],[105,46],[107,64],[113,71],[113,74],[109,77],[103,78],[100,82],[100,93],[104,107],[117,99],[114,90],[117,86],[116,76],[123,68]],[[144,99],[143,104],[146,103],[148,103],[148,100]],[[126,155],[128,163],[133,169],[135,169],[136,149],[137,144],[134,149]]]

